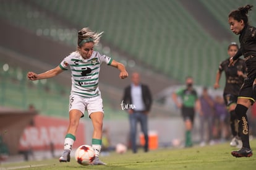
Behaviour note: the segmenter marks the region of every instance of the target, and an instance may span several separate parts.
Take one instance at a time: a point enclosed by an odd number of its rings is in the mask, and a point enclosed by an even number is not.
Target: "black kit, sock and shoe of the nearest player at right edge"
[[[247,78],[244,80],[238,98],[244,98],[255,102],[256,87],[254,80],[256,78],[256,28],[250,25],[245,25],[239,35],[240,49],[233,57],[236,61],[241,55],[244,56],[245,65],[247,67]],[[250,157],[252,150],[249,143],[249,124],[246,115],[248,108],[243,104],[237,104],[236,116],[239,120],[239,134],[242,140],[242,148],[238,151],[232,151],[231,154],[235,157]]]

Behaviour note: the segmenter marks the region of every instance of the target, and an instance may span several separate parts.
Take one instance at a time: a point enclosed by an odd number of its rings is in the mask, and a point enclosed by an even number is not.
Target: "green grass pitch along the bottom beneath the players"
[[[256,151],[256,140],[250,142]],[[222,143],[207,147],[192,147],[182,149],[161,148],[137,154],[131,151],[119,155],[110,153],[100,159],[106,166],[82,166],[72,158],[70,163],[59,163],[58,158],[44,161],[28,161],[24,163],[1,164],[0,169],[255,169],[256,152],[250,158],[234,158],[229,143]]]

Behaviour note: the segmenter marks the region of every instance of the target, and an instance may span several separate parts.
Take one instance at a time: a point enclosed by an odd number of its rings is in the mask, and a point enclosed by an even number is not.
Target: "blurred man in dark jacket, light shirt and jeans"
[[[129,113],[130,140],[132,151],[137,153],[137,122],[140,123],[145,138],[144,151],[148,151],[148,113],[151,108],[151,92],[147,85],[140,83],[140,75],[132,74],[132,83],[125,88],[122,103],[127,104]]]

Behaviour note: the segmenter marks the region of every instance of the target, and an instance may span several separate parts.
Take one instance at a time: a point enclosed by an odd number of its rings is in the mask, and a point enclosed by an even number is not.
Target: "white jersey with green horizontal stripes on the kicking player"
[[[62,70],[70,68],[72,74],[71,94],[85,98],[92,98],[100,95],[98,80],[101,63],[111,64],[111,57],[101,55],[93,51],[90,59],[83,59],[78,51],[65,57],[59,67]]]

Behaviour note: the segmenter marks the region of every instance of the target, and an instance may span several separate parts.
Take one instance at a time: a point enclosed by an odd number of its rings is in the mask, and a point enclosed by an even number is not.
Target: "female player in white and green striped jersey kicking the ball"
[[[34,72],[28,72],[27,74],[30,80],[40,80],[54,77],[68,68],[71,70],[72,88],[69,100],[69,127],[64,141],[64,153],[59,158],[60,162],[70,161],[70,151],[75,142],[79,119],[84,116],[84,112],[87,110],[94,129],[92,147],[95,150],[96,157],[92,164],[105,164],[98,158],[101,151],[104,117],[101,93],[98,88],[100,66],[102,62],[106,62],[106,64],[116,67],[120,71],[119,77],[121,79],[128,77],[128,73],[123,64],[114,61],[111,57],[93,51],[94,46],[100,41],[102,33],[92,32],[89,28],[82,28],[78,32],[77,51],[65,57],[61,64],[54,69],[42,74],[35,74]]]

